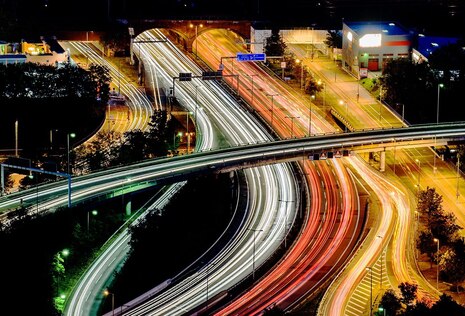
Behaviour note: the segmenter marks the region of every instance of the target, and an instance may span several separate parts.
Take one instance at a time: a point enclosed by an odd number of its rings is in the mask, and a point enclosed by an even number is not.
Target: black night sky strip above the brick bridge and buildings
[[[88,29],[117,18],[266,20],[330,28],[344,18],[395,20],[423,32],[465,30],[463,0],[0,0],[2,6],[35,28]]]

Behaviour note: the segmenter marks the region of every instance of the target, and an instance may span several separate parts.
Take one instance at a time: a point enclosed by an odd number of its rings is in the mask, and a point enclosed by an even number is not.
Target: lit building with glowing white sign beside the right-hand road
[[[411,33],[394,22],[344,22],[342,65],[359,78],[380,71],[389,59],[408,58]]]

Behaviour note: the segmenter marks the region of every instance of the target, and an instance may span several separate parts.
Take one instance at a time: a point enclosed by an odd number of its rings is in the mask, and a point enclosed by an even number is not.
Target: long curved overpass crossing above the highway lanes
[[[146,188],[175,183],[206,172],[229,172],[285,161],[338,158],[354,152],[385,152],[464,140],[465,122],[441,123],[325,134],[152,159],[72,178],[72,204],[105,195],[113,196],[115,190],[121,190],[122,183],[137,190],[138,186]],[[2,175],[2,185],[3,179]],[[34,205],[37,199],[44,205],[43,209],[65,206],[68,203],[68,183],[57,181],[43,184],[37,190],[33,188],[2,196],[0,212],[13,210],[20,203]],[[51,200],[56,202],[51,203]]]

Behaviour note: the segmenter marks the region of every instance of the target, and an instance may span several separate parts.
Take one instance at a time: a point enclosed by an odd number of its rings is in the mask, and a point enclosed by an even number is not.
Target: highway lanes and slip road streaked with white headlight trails
[[[156,41],[163,39],[163,34],[153,31],[152,33],[147,32],[146,34],[140,35],[142,40],[147,42]],[[154,80],[157,81],[159,87],[169,87],[172,83],[172,78],[177,76],[179,72],[184,72],[187,69],[192,72],[199,73],[200,70],[195,66],[192,61],[185,58],[182,53],[171,43],[166,42],[162,44],[144,44],[137,45],[140,51],[136,54],[144,56],[146,59],[145,67],[148,67],[148,71],[156,73]],[[171,62],[166,63],[164,60],[169,59]],[[200,87],[200,88],[199,88]],[[215,122],[216,128],[223,131],[224,137],[228,143],[233,146],[254,142],[256,140],[268,141],[270,138],[267,137],[266,133],[260,131],[258,124],[252,120],[251,116],[248,116],[246,112],[240,110],[235,101],[226,95],[220,87],[214,82],[202,82],[200,79],[194,79],[192,83],[182,85],[179,83],[176,87],[176,98],[185,108],[194,114],[194,121],[198,123],[199,132],[202,134],[202,141],[197,144],[197,150],[207,150],[214,147],[214,141],[217,137],[212,132],[213,128],[211,123],[208,123],[207,118],[212,119]],[[202,108],[198,108],[198,104],[202,105]],[[200,146],[200,147],[199,147]],[[176,157],[174,157],[176,158]],[[174,159],[173,158],[173,159]],[[250,258],[253,246],[251,243],[251,234],[253,231],[250,227],[260,227],[263,230],[263,237],[257,238],[255,251],[255,263],[257,266],[261,265],[274,251],[279,247],[279,242],[276,240],[282,240],[284,238],[284,214],[289,214],[290,220],[292,220],[293,211],[290,206],[277,205],[279,198],[294,199],[294,192],[297,190],[295,180],[291,170],[286,164],[279,164],[276,166],[263,166],[260,168],[254,168],[245,171],[248,186],[250,188],[248,202],[250,218],[244,220],[244,226],[241,231],[236,233],[236,240],[233,240],[228,245],[229,249],[225,249],[225,252],[221,253],[215,260],[215,262],[208,263],[209,269],[209,283],[211,284],[211,295],[215,295],[218,291],[223,288],[229,288],[232,284],[235,284],[238,279],[243,279],[247,275],[250,275],[251,265]],[[128,176],[129,178],[129,176]],[[133,176],[130,176],[130,181],[133,180]],[[263,180],[266,179],[264,183]],[[127,252],[124,243],[121,243],[121,249],[108,253],[110,257],[109,261],[113,261],[113,258],[121,258],[122,255]],[[116,254],[117,253],[117,254]],[[104,254],[102,257],[106,257]],[[236,259],[235,259],[236,258]],[[201,261],[202,258],[199,258]],[[196,265],[197,263],[192,263]],[[216,268],[210,268],[210,266]],[[234,271],[228,271],[229,269]],[[186,270],[191,267],[187,267]],[[92,269],[92,274],[86,276],[85,282],[81,282],[79,291],[74,293],[73,299],[70,300],[67,314],[72,315],[85,315],[89,312],[88,300],[89,293],[95,293],[98,287],[89,287],[85,285],[86,282],[93,282],[94,279],[100,279],[102,275],[105,275],[105,271],[108,271],[106,266],[96,266]],[[180,274],[183,274],[182,271]],[[228,275],[229,277],[222,276]],[[215,275],[218,275],[215,277]],[[173,276],[176,278],[176,276]],[[216,279],[221,285],[216,284]],[[189,282],[188,282],[189,281]],[[204,283],[205,273],[199,271],[197,276],[197,287],[193,286],[194,281],[188,280],[185,284],[177,284],[170,292],[164,292],[168,298],[157,298],[154,297],[152,302],[145,304],[145,310],[141,313],[147,313],[147,310],[153,310],[155,308],[164,308],[168,310],[188,309],[192,308],[205,300]],[[195,283],[195,282],[194,282]],[[179,297],[179,288],[183,289],[183,292],[187,293],[185,288],[188,288],[189,299]],[[195,291],[198,294],[195,294]],[[98,292],[98,291],[97,291]],[[194,293],[194,294],[192,294]],[[151,293],[153,295],[153,293]],[[93,294],[92,294],[93,295]],[[187,295],[187,294],[186,294]],[[98,295],[97,295],[98,296]],[[176,297],[176,299],[174,299]],[[192,297],[196,297],[193,299]],[[96,297],[97,298],[97,297]],[[145,298],[144,298],[145,299]],[[167,306],[158,307],[160,302],[165,302]],[[174,304],[176,302],[176,304]],[[128,304],[125,304],[126,306]],[[185,306],[184,306],[185,305]],[[155,306],[155,307],[154,307]],[[135,311],[134,313],[137,313]]]

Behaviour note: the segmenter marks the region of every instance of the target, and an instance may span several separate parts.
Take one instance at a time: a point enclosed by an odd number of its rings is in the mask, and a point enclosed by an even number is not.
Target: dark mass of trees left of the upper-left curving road
[[[103,119],[109,83],[108,70],[98,65],[0,65],[0,148],[15,146],[16,121],[24,150],[48,146],[50,129],[62,145],[66,133],[91,133]]]

